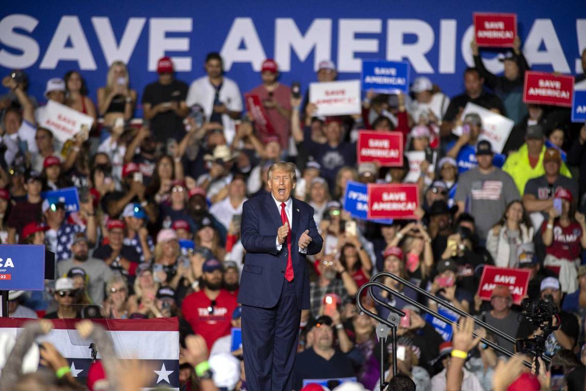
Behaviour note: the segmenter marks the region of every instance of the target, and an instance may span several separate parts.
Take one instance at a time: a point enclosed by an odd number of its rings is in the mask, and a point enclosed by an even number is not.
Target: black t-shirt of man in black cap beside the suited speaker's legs
[[[332,358],[326,360],[314,349],[299,353],[293,370],[293,389],[301,390],[304,379],[338,379],[354,376],[352,362],[344,353],[336,350]]]

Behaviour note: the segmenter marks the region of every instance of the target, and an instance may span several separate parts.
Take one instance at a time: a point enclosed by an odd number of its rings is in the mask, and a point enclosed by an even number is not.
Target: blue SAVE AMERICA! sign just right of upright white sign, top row
[[[381,94],[409,93],[409,63],[363,60],[362,90]]]

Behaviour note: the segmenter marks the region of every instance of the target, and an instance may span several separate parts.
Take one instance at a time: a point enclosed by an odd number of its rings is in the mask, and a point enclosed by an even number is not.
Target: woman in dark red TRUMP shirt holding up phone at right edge
[[[561,205],[560,205],[561,204]],[[574,212],[572,193],[558,188],[554,193],[554,206],[541,226],[541,237],[546,245],[544,266],[559,267],[561,291],[573,293],[578,289],[580,253],[586,248],[584,215]]]

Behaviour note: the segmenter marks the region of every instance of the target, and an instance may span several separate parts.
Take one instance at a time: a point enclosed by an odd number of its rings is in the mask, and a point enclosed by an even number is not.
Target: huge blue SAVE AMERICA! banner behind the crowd
[[[156,80],[156,62],[175,62],[177,77],[190,83],[204,74],[207,52],[220,52],[227,77],[241,91],[260,84],[263,60],[274,58],[281,82],[315,81],[323,59],[338,68],[338,79],[360,77],[362,59],[407,61],[411,79],[429,76],[448,96],[464,89],[462,74],[472,66],[472,13],[517,14],[519,36],[535,70],[581,73],[586,47],[582,0],[532,2],[385,0],[356,2],[7,1],[0,13],[0,74],[25,69],[30,92],[41,102],[46,81],[81,70],[90,97],[105,86],[108,65],[128,64],[131,87],[142,98]],[[485,66],[501,73],[496,51],[482,50]],[[303,91],[305,92],[305,91]],[[141,115],[138,107],[137,115]]]

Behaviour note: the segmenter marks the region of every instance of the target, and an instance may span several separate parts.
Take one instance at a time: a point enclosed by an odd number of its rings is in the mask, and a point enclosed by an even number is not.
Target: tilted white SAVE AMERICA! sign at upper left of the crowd
[[[94,118],[50,100],[45,109],[45,116],[40,118],[39,122],[40,126],[53,132],[57,140],[66,142],[81,131],[82,127],[89,131]]]

